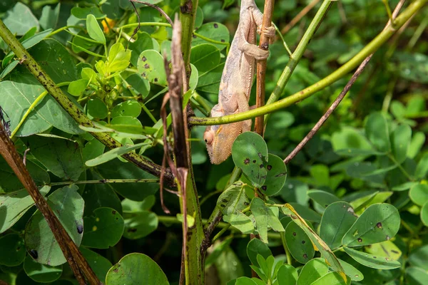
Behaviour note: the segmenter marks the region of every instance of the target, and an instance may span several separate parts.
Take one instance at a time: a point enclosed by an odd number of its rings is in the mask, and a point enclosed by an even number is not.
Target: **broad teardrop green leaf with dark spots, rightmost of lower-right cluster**
[[[372,204],[357,219],[342,239],[347,247],[384,242],[397,234],[399,212],[391,204]]]

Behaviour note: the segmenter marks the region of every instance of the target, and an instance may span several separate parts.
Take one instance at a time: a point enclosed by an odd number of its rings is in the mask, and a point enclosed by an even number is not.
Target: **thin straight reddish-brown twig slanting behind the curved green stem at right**
[[[404,1],[405,0],[400,0],[399,3],[397,4],[397,6],[395,7],[394,12],[392,13],[392,21],[394,21],[395,17],[397,17],[399,10],[402,8],[402,6],[404,4]],[[385,28],[387,28],[389,25],[391,25],[391,19],[389,19]],[[328,108],[327,112],[324,115],[322,115],[320,120],[318,120],[318,122],[315,124],[314,128],[312,128],[312,130],[310,130],[310,132],[305,136],[305,138],[303,138],[303,140],[299,143],[299,145],[297,145],[297,147],[295,147],[295,149],[292,150],[292,152],[290,152],[290,155],[285,157],[284,163],[286,165],[288,164],[288,162],[290,162],[290,160],[292,160],[293,157],[295,157],[297,155],[298,152],[300,152],[300,150],[302,150],[302,148],[307,144],[307,142],[311,138],[314,137],[314,135],[318,132],[318,130],[320,130],[321,126],[325,123],[325,121],[330,117],[330,115],[333,113],[333,111],[340,104],[340,102],[345,97],[345,95],[348,93],[348,91],[350,90],[352,85],[355,83],[357,78],[360,76],[362,71],[364,71],[364,68],[367,66],[367,64],[369,63],[372,56],[373,56],[373,53],[371,53],[369,56],[367,56],[365,58],[364,61],[362,61],[360,66],[358,66],[357,71],[355,71],[355,73],[352,75],[350,81],[348,81],[345,88],[343,88],[342,92],[340,92],[340,94],[337,96],[337,98],[332,103],[330,108]]]

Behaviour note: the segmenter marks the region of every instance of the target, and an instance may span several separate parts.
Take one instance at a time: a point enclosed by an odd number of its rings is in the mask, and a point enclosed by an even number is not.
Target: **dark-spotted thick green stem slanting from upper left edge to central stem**
[[[42,86],[54,97],[54,99],[61,105],[68,114],[71,115],[71,118],[76,120],[79,125],[85,127],[93,128],[92,121],[86,117],[77,105],[68,99],[68,97],[62,92],[51,77],[39,66],[34,58],[29,54],[28,51],[22,46],[22,44],[14,37],[14,35],[9,31],[9,29],[4,25],[3,21],[0,20],[0,37],[7,43],[7,45],[14,51],[17,58],[26,66],[26,68],[36,77],[36,79],[41,83]],[[117,140],[111,138],[108,133],[91,133],[93,137],[102,142],[104,145],[110,148],[121,147],[121,143]],[[156,165],[153,162],[150,162],[143,158],[141,155],[138,155],[136,152],[129,152],[125,155],[122,155],[126,160],[133,162],[133,164],[140,167],[142,170],[145,170],[153,175],[161,175],[161,166]],[[170,170],[165,171],[165,180],[172,185],[174,177]]]

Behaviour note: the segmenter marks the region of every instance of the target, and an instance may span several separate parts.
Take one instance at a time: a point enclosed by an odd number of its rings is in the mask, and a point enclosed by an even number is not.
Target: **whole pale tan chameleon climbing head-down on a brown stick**
[[[263,13],[255,5],[255,1],[242,0],[238,28],[230,45],[220,80],[218,104],[211,110],[211,117],[250,110],[248,100],[250,100],[253,85],[255,63],[269,56],[269,51],[255,45],[256,32],[261,33],[262,21]],[[275,36],[275,27],[267,27],[263,33],[271,41]],[[206,142],[211,163],[218,165],[225,161],[232,152],[235,139],[240,133],[250,131],[251,123],[251,120],[245,120],[226,125],[208,126],[203,139]]]

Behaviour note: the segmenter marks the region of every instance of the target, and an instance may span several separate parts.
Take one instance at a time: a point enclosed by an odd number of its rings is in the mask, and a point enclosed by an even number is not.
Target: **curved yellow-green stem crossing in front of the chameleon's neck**
[[[402,12],[396,19],[395,19],[395,28],[392,26],[388,26],[385,28],[382,32],[379,33],[379,35],[374,38],[370,43],[365,46],[365,48],[362,48],[362,50],[357,53],[353,58],[350,59],[347,63],[345,63],[343,66],[338,68],[335,72],[331,73],[329,76],[323,78],[321,81],[318,81],[317,83],[313,84],[312,86],[309,86],[300,92],[297,92],[293,95],[290,95],[287,98],[284,98],[282,100],[277,101],[276,103],[272,103],[275,100],[268,100],[268,103],[270,105],[265,105],[260,108],[256,108],[253,110],[249,110],[243,113],[238,113],[235,115],[225,115],[223,117],[215,117],[215,118],[189,118],[189,123],[192,125],[223,125],[228,123],[235,123],[242,120],[248,120],[250,118],[259,117],[260,115],[265,115],[268,113],[275,112],[277,110],[280,110],[282,108],[286,108],[292,104],[295,104],[301,100],[304,100],[305,98],[310,97],[310,95],[322,90],[323,88],[326,88],[327,86],[330,86],[332,83],[335,83],[340,78],[343,78],[347,75],[347,73],[350,73],[354,68],[356,68],[364,59],[369,56],[371,53],[374,53],[377,51],[377,49],[382,46],[396,31],[398,28],[400,28],[404,23],[407,22],[407,20],[410,19],[417,11],[422,9],[424,4],[427,3],[428,0],[416,0],[410,4],[406,10]],[[275,88],[274,93],[277,93],[278,96],[282,92],[282,83],[278,83],[277,88]],[[281,91],[281,92],[280,92]],[[274,94],[272,93],[272,94]],[[272,95],[271,95],[272,97]]]

